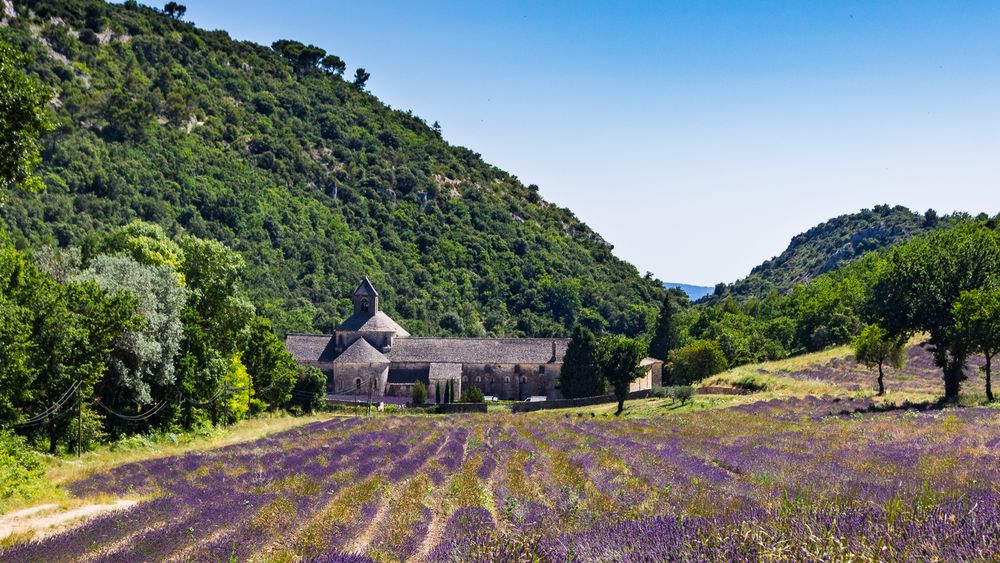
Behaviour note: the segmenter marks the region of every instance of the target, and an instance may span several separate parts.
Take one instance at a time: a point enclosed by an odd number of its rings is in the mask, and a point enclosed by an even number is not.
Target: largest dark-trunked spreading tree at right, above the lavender
[[[986,287],[997,271],[1000,232],[972,222],[894,248],[878,265],[867,315],[893,337],[930,333],[948,401],[958,400],[970,353],[955,330],[955,302],[963,291]]]

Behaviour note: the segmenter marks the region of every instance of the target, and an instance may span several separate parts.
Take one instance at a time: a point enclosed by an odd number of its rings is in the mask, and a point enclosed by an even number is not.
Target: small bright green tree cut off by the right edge
[[[969,350],[986,358],[986,400],[993,402],[990,381],[993,357],[1000,352],[1000,290],[964,291],[955,302],[955,331]]]

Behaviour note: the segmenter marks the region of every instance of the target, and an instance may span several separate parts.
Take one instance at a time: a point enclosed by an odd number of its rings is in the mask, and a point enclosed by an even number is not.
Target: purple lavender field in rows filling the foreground
[[[143,498],[4,561],[1000,558],[1000,411],[335,418],[69,485]]]

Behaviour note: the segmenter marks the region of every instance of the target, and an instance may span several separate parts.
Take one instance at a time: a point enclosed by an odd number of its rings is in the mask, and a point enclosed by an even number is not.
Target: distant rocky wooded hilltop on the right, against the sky
[[[784,252],[755,267],[730,290],[734,295],[756,297],[772,289],[786,293],[796,284],[807,283],[866,252],[954,225],[967,217],[965,214],[938,217],[933,210],[916,213],[900,205],[878,205],[834,217],[793,237]]]

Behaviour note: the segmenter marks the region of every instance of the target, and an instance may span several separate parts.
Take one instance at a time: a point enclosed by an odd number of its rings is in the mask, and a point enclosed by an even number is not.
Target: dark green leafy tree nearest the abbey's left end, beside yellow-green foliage
[[[255,317],[250,323],[242,360],[250,374],[254,396],[264,406],[273,411],[289,401],[297,377],[295,358],[285,350],[266,319]]]

